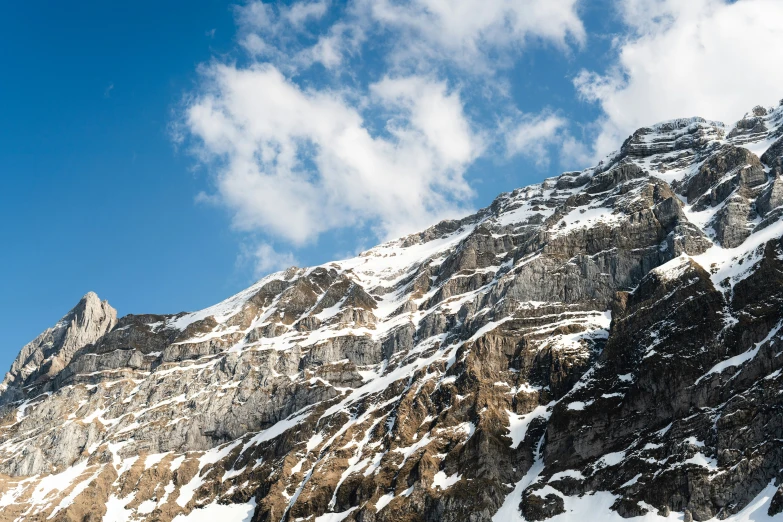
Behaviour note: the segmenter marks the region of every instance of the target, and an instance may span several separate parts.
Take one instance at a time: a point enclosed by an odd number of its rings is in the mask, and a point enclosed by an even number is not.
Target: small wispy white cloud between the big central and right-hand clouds
[[[506,155],[526,156],[539,166],[549,163],[547,148],[558,142],[563,142],[566,136],[563,131],[568,126],[568,120],[551,113],[535,116],[525,116],[515,127],[505,133]]]

